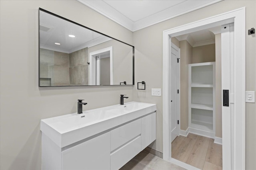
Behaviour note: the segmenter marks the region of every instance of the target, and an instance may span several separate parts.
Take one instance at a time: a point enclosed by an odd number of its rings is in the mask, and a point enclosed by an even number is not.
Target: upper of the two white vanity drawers
[[[110,131],[110,151],[128,143],[140,134],[141,119],[137,119]]]

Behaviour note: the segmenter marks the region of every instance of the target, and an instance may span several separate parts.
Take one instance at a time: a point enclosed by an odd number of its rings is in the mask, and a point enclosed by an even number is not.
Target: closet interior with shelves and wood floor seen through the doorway
[[[171,157],[199,169],[222,169],[221,26],[172,37],[172,42],[178,47],[171,44],[170,57],[176,51],[173,46],[181,53],[176,61],[170,59],[169,89],[171,95],[177,94],[172,88],[177,75],[172,70],[179,62],[182,85],[178,88],[180,101],[175,103],[182,104],[178,119],[182,128],[178,135],[171,131]],[[171,108],[175,108],[172,99]],[[169,113],[174,127],[175,110]]]

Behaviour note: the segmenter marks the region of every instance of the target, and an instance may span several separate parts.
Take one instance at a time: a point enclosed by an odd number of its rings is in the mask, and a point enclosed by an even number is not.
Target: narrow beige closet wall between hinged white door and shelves
[[[188,64],[192,63],[193,47],[180,41],[180,130],[188,129]]]

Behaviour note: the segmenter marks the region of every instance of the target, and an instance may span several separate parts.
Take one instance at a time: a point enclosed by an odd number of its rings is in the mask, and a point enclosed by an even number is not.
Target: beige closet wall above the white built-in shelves
[[[205,63],[215,61],[215,44],[193,47],[192,63]]]

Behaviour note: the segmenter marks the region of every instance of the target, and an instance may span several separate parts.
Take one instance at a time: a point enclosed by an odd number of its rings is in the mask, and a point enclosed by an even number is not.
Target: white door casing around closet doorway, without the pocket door
[[[245,7],[163,31],[163,159],[172,161],[169,141],[169,53],[171,38],[234,22],[234,128],[231,164],[245,169]],[[223,57],[223,56],[222,56]],[[224,56],[225,57],[225,56]],[[231,70],[230,70],[231,71]],[[232,82],[231,82],[232,83]],[[225,114],[225,112],[222,112]],[[222,134],[224,136],[226,134]],[[223,150],[226,152],[225,150]],[[224,153],[225,154],[225,153]]]

